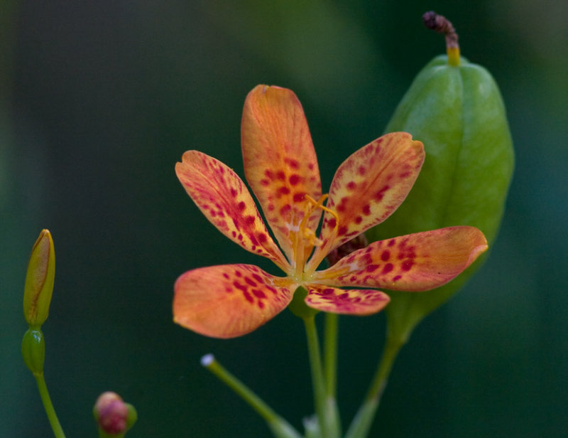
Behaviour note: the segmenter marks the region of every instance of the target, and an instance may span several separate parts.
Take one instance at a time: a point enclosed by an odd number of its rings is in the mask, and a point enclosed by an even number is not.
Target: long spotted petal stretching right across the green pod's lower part
[[[441,228],[373,242],[313,278],[334,286],[420,292],[457,277],[485,250],[477,228]]]

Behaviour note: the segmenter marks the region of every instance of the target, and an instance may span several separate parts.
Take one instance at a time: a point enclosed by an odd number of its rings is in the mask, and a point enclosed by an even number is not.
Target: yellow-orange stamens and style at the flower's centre
[[[337,213],[335,213],[333,210],[331,210],[330,208],[327,208],[323,205],[323,203],[327,199],[327,197],[328,197],[328,195],[322,195],[320,197],[320,199],[318,199],[316,201],[311,196],[305,195],[305,199],[306,199],[306,201],[308,201],[308,203],[306,205],[305,214],[304,214],[304,217],[302,218],[302,222],[300,222],[299,230],[297,231],[297,235],[296,235],[296,239],[295,239],[295,248],[294,248],[294,254],[295,254],[294,277],[298,280],[304,279],[304,277],[305,277],[304,268],[305,268],[306,260],[307,260],[308,257],[310,257],[310,254],[312,254],[312,251],[314,250],[314,248],[315,247],[321,248],[322,245],[324,245],[325,247],[329,247],[329,245],[332,244],[332,240],[333,240],[333,239],[327,239],[327,241],[324,242],[323,240],[321,240],[319,237],[317,237],[315,235],[315,230],[312,230],[312,228],[310,228],[310,217],[312,216],[314,211],[317,210],[317,209],[320,209],[320,210],[326,211],[327,213],[331,214],[335,218],[334,233],[337,233],[337,228],[339,226],[339,218],[337,216]],[[327,252],[325,252],[324,249],[325,248],[321,248],[320,251],[319,251],[320,254],[323,253],[320,262],[323,260],[323,257],[325,257],[325,254],[327,254]],[[317,265],[319,265],[320,262],[318,262]],[[311,262],[310,262],[310,266],[312,266]],[[311,274],[311,272],[310,272],[310,274]]]

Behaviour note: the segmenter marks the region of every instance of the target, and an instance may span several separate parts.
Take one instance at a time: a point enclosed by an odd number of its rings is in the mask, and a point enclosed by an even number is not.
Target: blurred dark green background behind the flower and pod
[[[231,6],[228,6],[231,5]],[[239,5],[239,6],[236,6]],[[0,66],[0,435],[51,432],[19,355],[26,260],[41,228],[57,272],[45,375],[68,437],[95,437],[104,390],[138,408],[129,437],[266,437],[199,365],[212,352],[295,426],[312,412],[300,321],[229,341],[175,326],[187,269],[255,262],[175,178],[187,149],[242,175],[240,118],[258,83],[293,89],[329,186],[444,52],[421,14],[454,22],[501,87],[517,165],[501,235],[457,297],[417,327],[373,437],[562,437],[568,430],[568,6],[562,1],[4,1]],[[383,316],[342,318],[351,420]]]

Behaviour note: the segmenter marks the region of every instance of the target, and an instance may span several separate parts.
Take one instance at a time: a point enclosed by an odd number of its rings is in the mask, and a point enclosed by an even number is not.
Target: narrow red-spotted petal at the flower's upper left
[[[268,257],[285,271],[288,262],[268,234],[260,213],[239,176],[221,161],[187,151],[175,173],[197,207],[221,233],[245,250]]]

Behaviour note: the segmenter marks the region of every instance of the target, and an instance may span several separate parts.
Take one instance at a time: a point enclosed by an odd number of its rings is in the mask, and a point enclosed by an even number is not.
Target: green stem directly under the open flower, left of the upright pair
[[[339,414],[334,397],[328,397],[322,368],[320,342],[317,338],[315,316],[305,316],[304,324],[307,336],[307,351],[312,368],[312,385],[314,387],[315,412],[324,438],[339,438]]]

